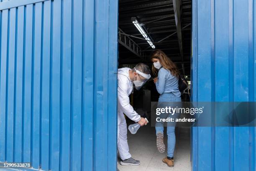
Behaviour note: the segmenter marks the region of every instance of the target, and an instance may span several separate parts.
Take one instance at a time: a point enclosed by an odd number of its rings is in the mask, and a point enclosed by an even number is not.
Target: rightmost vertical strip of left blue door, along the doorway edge
[[[108,38],[108,57],[112,62],[108,63],[108,102],[111,102],[112,105],[108,106],[108,113],[112,113],[112,115],[108,115],[108,130],[112,130],[110,134],[108,134],[108,171],[115,170],[117,155],[113,153],[117,147],[117,60],[118,59],[118,41],[116,31],[118,30],[118,15],[116,15],[115,11],[118,9],[118,0],[109,0],[111,4],[109,6],[109,11],[112,11],[109,14],[109,38]],[[114,84],[113,84],[114,83]],[[114,126],[114,129],[113,129]],[[114,167],[113,167],[114,166]]]

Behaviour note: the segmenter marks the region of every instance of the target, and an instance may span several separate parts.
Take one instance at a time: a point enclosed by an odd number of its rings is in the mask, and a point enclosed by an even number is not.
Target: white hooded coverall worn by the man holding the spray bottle
[[[130,105],[129,95],[133,92],[133,82],[129,78],[130,68],[118,69],[118,152],[122,160],[131,158],[127,142],[127,125],[123,114],[134,122],[141,116]]]

